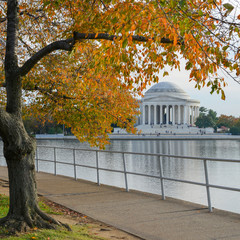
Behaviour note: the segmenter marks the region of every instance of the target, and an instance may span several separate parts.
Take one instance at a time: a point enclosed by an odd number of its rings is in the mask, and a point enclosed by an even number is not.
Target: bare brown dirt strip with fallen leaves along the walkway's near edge
[[[9,195],[8,191],[8,182],[0,179],[0,194]],[[61,215],[54,215],[53,217],[62,223],[67,223],[69,225],[75,224],[88,224],[90,233],[103,237],[106,239],[124,239],[124,240],[139,240],[131,234],[123,232],[119,229],[116,229],[112,226],[106,225],[102,222],[96,221],[88,216],[85,216],[81,213],[72,211],[64,206],[56,204],[48,199],[39,196],[39,198],[44,201],[47,205],[51,206],[54,211],[62,212]]]

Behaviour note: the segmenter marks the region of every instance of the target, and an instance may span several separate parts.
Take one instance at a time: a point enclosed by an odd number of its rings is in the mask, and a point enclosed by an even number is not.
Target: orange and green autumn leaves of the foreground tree
[[[0,5],[4,19],[6,3]],[[136,97],[159,80],[159,73],[168,74],[166,66],[179,69],[180,58],[187,60],[189,80],[196,87],[206,83],[223,99],[226,83],[218,76],[219,68],[240,74],[238,45],[232,44],[239,41],[239,24],[227,22],[220,0],[39,0],[31,4],[23,0],[19,9],[19,65],[50,43],[73,38],[74,32],[94,33],[94,40],[86,35],[75,41],[70,54],[55,51],[41,59],[24,76],[23,84],[32,90],[24,92],[29,113],[51,112],[57,121],[72,127],[80,140],[93,145],[106,144],[111,123],[134,131]],[[222,34],[224,24],[231,28],[228,34]],[[0,27],[4,40],[4,21]],[[114,38],[99,39],[101,33]],[[136,41],[134,36],[146,41]],[[4,51],[0,41],[1,74]],[[4,82],[1,74],[0,84]]]

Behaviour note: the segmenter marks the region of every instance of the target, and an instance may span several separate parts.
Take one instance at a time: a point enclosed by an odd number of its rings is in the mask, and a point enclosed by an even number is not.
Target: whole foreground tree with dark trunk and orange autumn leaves
[[[240,75],[239,15],[220,0],[1,0],[0,136],[10,183],[13,230],[59,224],[37,205],[36,143],[23,125],[51,114],[81,141],[103,147],[111,123],[133,128],[136,95],[180,68],[196,87],[221,93]],[[230,6],[230,7],[229,7]],[[16,171],[17,169],[17,171]]]

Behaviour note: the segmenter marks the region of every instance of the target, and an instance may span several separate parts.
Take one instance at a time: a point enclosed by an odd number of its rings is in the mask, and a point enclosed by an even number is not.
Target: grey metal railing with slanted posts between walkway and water
[[[53,149],[53,160],[46,160],[46,159],[40,159],[38,158],[38,151],[40,148],[50,148]],[[63,162],[63,161],[57,161],[57,155],[56,150],[71,150],[73,152],[73,163]],[[76,151],[89,151],[89,152],[95,152],[96,153],[96,164],[95,166],[90,166],[86,164],[77,164],[76,163]],[[123,164],[123,170],[116,170],[116,169],[108,169],[108,168],[102,168],[99,165],[99,153],[114,153],[114,154],[121,154],[122,155],[122,164]],[[139,155],[139,156],[153,156],[157,157],[159,161],[159,176],[139,173],[139,172],[130,172],[127,170],[126,167],[126,155]],[[204,177],[205,182],[196,182],[196,181],[189,181],[189,180],[183,180],[183,179],[175,179],[166,177],[163,175],[163,165],[162,165],[162,158],[168,157],[169,161],[173,158],[178,159],[184,159],[184,160],[198,160],[203,161],[204,165]],[[138,152],[122,152],[122,151],[107,151],[107,150],[97,150],[97,149],[81,149],[81,148],[64,148],[64,147],[54,147],[54,146],[38,146],[37,152],[36,152],[36,170],[39,171],[39,162],[53,162],[54,163],[54,174],[57,175],[57,164],[66,164],[73,166],[74,172],[73,176],[74,179],[77,180],[77,167],[84,167],[84,168],[91,168],[96,170],[96,182],[98,185],[100,185],[100,176],[99,171],[110,171],[110,172],[116,172],[116,173],[122,173],[124,174],[124,180],[125,180],[125,189],[128,192],[128,175],[136,175],[136,176],[143,176],[143,177],[150,177],[159,179],[161,182],[161,196],[162,199],[165,199],[165,193],[164,193],[164,181],[174,181],[174,182],[180,182],[180,183],[187,183],[187,184],[193,184],[198,186],[204,186],[206,188],[206,194],[207,194],[207,202],[208,202],[208,209],[210,212],[212,212],[212,204],[211,204],[211,195],[210,195],[210,188],[217,188],[222,190],[229,190],[229,191],[237,191],[240,192],[240,188],[233,188],[233,187],[227,187],[227,186],[220,186],[220,185],[214,185],[209,183],[209,175],[208,175],[208,161],[213,162],[228,162],[228,163],[240,163],[240,160],[232,160],[232,159],[216,159],[216,158],[206,158],[206,157],[190,157],[190,156],[178,156],[178,155],[170,155],[170,154],[156,154],[156,153],[138,153]]]

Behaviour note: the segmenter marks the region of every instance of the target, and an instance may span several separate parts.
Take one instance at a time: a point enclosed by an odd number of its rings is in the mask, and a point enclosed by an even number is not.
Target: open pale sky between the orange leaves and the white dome
[[[192,99],[199,100],[200,106],[213,109],[218,116],[225,114],[240,117],[240,84],[237,84],[232,79],[228,79],[228,86],[224,88],[226,99],[222,100],[221,94],[210,94],[211,88],[209,87],[204,87],[200,90],[196,89],[195,83],[189,82],[189,73],[182,67],[180,72],[178,70],[169,71],[169,76],[160,78],[160,81],[174,82],[185,90]]]

